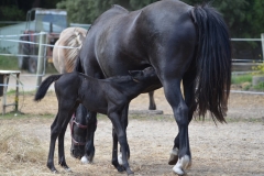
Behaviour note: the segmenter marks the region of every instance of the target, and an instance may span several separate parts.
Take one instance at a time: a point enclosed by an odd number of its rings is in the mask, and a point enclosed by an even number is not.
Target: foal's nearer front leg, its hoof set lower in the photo
[[[129,162],[128,162],[128,151],[129,151],[129,144],[128,144],[128,139],[127,139],[127,133],[125,130],[122,125],[120,114],[117,112],[109,112],[108,113],[109,119],[112,122],[112,125],[114,128],[114,131],[118,136],[118,141],[121,145],[121,151],[122,151],[122,166],[125,168],[125,172],[128,175],[133,175],[134,173],[130,169]]]

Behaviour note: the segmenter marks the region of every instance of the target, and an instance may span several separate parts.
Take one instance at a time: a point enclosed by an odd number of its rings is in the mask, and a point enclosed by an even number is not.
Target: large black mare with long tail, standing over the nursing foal
[[[168,163],[175,164],[175,173],[184,174],[191,163],[188,124],[194,111],[205,117],[209,110],[213,120],[224,122],[231,48],[221,14],[208,4],[191,7],[177,0],[158,1],[131,12],[114,6],[91,25],[76,70],[105,78],[150,65],[157,73],[178,127]],[[96,112],[89,112],[89,118],[95,123]],[[74,156],[85,153],[92,160],[95,129],[88,129],[87,135],[74,134],[87,140],[81,148],[72,144]]]

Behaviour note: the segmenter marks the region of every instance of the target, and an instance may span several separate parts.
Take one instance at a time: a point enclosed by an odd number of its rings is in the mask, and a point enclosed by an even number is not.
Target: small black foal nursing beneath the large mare
[[[146,91],[150,85],[160,82],[154,68],[131,70],[128,76],[96,79],[74,72],[64,75],[52,75],[38,87],[34,100],[43,99],[51,84],[55,81],[55,92],[58,100],[58,112],[51,127],[51,144],[47,167],[56,173],[54,166],[54,148],[58,138],[58,164],[70,170],[64,153],[64,135],[67,124],[79,103],[88,110],[107,114],[112,122],[122,151],[122,166],[117,160],[117,150],[112,154],[112,164],[128,175],[133,174],[129,166],[129,144],[127,140],[128,113],[123,112],[130,101]]]

